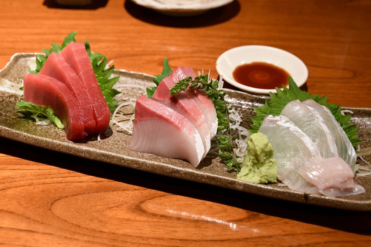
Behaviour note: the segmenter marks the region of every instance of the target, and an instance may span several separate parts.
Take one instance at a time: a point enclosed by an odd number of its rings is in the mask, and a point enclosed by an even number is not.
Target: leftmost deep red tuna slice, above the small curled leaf
[[[39,106],[50,106],[62,120],[68,140],[85,138],[83,122],[86,116],[80,105],[61,81],[42,74],[26,74],[23,77],[23,100]]]

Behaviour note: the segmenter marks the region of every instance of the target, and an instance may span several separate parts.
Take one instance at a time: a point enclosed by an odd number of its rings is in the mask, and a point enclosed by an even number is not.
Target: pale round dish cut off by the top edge
[[[131,0],[132,2],[154,9],[170,16],[192,16],[215,9],[234,0]]]

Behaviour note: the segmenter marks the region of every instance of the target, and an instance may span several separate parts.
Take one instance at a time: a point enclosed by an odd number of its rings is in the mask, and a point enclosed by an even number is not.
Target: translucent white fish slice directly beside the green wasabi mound
[[[269,138],[277,162],[277,177],[293,190],[303,191],[311,185],[298,173],[308,160],[321,157],[311,138],[285,116],[268,115],[259,132]],[[313,191],[307,190],[306,193]]]

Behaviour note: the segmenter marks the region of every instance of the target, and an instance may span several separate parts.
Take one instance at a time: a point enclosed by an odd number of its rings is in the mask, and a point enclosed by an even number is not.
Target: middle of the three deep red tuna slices
[[[59,53],[51,53],[47,57],[39,74],[53,77],[66,84],[78,100],[81,109],[84,111],[83,115],[87,117],[84,120],[85,132],[89,135],[95,133],[93,106],[88,92],[76,72],[69,66],[63,56]]]

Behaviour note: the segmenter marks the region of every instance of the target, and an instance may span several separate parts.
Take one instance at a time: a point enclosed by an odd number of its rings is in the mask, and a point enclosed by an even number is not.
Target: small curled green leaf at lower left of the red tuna
[[[54,113],[54,111],[49,107],[46,106],[37,106],[33,103],[20,101],[16,103],[17,111],[23,111],[26,116],[36,118],[47,118],[50,119],[58,128],[64,128],[62,121],[60,121],[59,117]],[[30,114],[31,113],[31,114]]]

